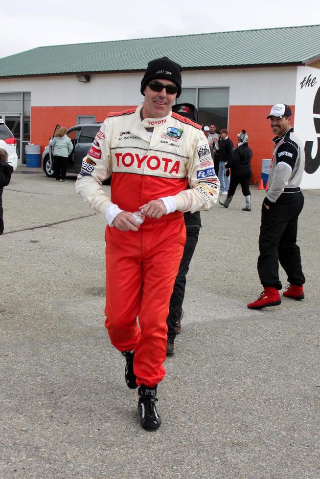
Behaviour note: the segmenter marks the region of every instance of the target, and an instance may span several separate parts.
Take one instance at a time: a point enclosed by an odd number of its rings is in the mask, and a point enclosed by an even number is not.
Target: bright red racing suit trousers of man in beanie
[[[105,234],[105,326],[115,348],[135,350],[138,386],[165,375],[166,318],[186,238],[183,215],[162,218],[146,218],[137,232],[107,226]]]

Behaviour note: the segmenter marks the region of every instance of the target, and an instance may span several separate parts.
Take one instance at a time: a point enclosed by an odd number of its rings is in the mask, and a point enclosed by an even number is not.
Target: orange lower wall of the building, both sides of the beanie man
[[[77,123],[77,115],[95,115],[95,121],[103,121],[110,111],[122,111],[134,108],[135,105],[104,106],[104,107],[31,107],[31,143],[41,145],[41,152],[48,144],[50,136],[57,123],[66,128]],[[253,156],[252,183],[259,183],[262,158],[271,158],[273,152],[273,133],[267,116],[269,106],[230,106],[229,107],[229,137],[237,144],[237,134],[246,130],[249,135],[249,145]],[[295,108],[292,107],[293,114]]]

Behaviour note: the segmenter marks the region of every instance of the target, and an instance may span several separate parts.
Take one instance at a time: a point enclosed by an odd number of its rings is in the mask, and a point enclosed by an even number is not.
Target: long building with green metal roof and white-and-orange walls
[[[316,94],[320,85],[320,25],[42,46],[0,59],[0,117],[20,152],[29,141],[44,149],[57,123],[69,128],[138,105],[142,72],[163,55],[183,66],[179,103],[195,104],[200,123],[228,128],[234,143],[248,131],[256,182],[272,154],[271,106],[295,111],[299,90]],[[299,88],[309,75],[313,86]],[[312,135],[317,141],[315,127]]]

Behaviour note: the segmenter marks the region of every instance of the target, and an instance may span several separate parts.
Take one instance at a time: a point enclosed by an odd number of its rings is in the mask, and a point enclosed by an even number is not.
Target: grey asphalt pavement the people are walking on
[[[299,218],[305,300],[261,311],[265,192],[202,213],[150,433],[104,328],[104,218],[67,179],[19,167],[4,188],[0,478],[320,478],[320,190]]]

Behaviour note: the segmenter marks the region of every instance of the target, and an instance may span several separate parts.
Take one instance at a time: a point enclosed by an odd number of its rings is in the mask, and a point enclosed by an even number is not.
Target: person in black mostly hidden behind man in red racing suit
[[[171,109],[175,113],[185,116],[195,123],[198,122],[198,110],[191,103],[173,105]],[[167,355],[174,354],[174,341],[176,335],[181,331],[186,274],[189,271],[189,264],[196,249],[201,228],[200,211],[196,211],[195,213],[186,212],[183,214],[183,217],[186,228],[186,241],[183,249],[183,257],[181,259],[179,271],[170,298],[169,314],[167,317]]]

